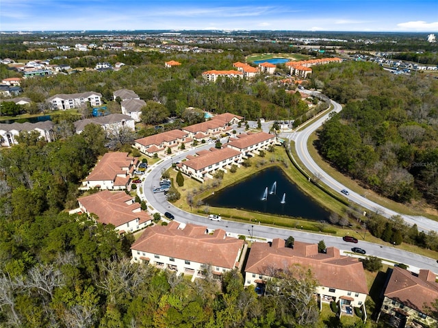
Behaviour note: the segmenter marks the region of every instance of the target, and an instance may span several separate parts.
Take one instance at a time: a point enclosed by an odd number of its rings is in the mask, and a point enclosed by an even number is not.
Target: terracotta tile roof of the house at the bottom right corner
[[[429,270],[420,270],[420,275],[416,277],[408,270],[396,266],[389,278],[385,296],[414,310],[427,313],[425,305],[438,299],[438,283],[435,282],[435,275]]]

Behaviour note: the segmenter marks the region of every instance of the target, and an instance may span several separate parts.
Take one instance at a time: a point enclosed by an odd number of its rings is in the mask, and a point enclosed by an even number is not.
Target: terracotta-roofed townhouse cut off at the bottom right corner
[[[392,327],[438,327],[438,317],[430,314],[438,299],[436,275],[424,269],[415,275],[397,266],[388,271],[379,318],[387,314]]]

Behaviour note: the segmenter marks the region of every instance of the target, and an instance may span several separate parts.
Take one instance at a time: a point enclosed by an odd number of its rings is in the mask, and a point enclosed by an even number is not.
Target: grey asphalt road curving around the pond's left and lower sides
[[[229,236],[237,237],[238,235],[244,235],[248,239],[257,240],[260,242],[268,242],[273,238],[286,239],[289,236],[294,236],[296,240],[300,240],[302,242],[318,243],[320,240],[324,240],[326,247],[337,247],[341,251],[350,252],[352,247],[360,247],[362,249],[365,249],[367,255],[375,255],[383,259],[391,260],[393,262],[407,264],[413,271],[417,271],[418,268],[427,268],[435,273],[438,273],[438,264],[436,262],[436,259],[430,259],[422,255],[403,251],[401,249],[398,249],[397,247],[381,247],[378,244],[366,242],[366,235],[363,236],[362,231],[355,231],[355,233],[353,233],[353,236],[359,240],[357,244],[353,244],[350,242],[344,242],[344,240],[342,240],[342,237],[324,236],[320,234],[312,234],[306,231],[267,227],[264,225],[259,225],[257,222],[236,223],[233,221],[224,220],[223,218],[222,221],[217,222],[209,220],[207,218],[207,214],[205,214],[205,216],[202,216],[194,214],[192,212],[185,212],[183,210],[180,210],[179,208],[172,205],[172,203],[166,201],[166,196],[163,192],[159,192],[157,194],[154,194],[152,192],[153,186],[159,185],[162,171],[171,166],[172,162],[180,162],[188,154],[192,154],[195,151],[201,149],[208,149],[209,147],[214,147],[214,143],[205,144],[201,147],[197,147],[196,149],[186,149],[181,153],[172,155],[170,158],[166,158],[166,160],[157,162],[146,170],[145,180],[143,183],[143,194],[141,194],[140,197],[142,199],[146,199],[148,205],[153,207],[153,212],[160,212],[162,214],[164,214],[164,212],[170,212],[175,216],[175,220],[177,220],[178,222],[205,225],[207,229],[220,228],[227,231],[227,234]],[[359,254],[348,253],[348,255],[361,257],[361,255]]]

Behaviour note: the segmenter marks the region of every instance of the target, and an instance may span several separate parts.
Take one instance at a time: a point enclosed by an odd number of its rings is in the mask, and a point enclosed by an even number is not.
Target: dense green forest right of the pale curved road
[[[315,67],[313,84],[344,109],[319,133],[320,153],[385,197],[438,208],[438,80],[370,63]]]

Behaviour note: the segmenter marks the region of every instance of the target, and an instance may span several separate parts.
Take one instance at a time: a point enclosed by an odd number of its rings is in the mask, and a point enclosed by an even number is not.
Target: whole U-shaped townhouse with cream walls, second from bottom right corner
[[[352,307],[365,310],[368,286],[363,265],[355,257],[340,255],[339,249],[328,247],[326,253],[318,253],[318,244],[294,242],[294,248],[285,247],[285,240],[275,238],[272,243],[253,242],[245,267],[245,286],[257,286],[264,290],[266,282],[275,270],[292,265],[309,268],[318,280],[315,294],[320,306],[335,301],[344,314]]]

